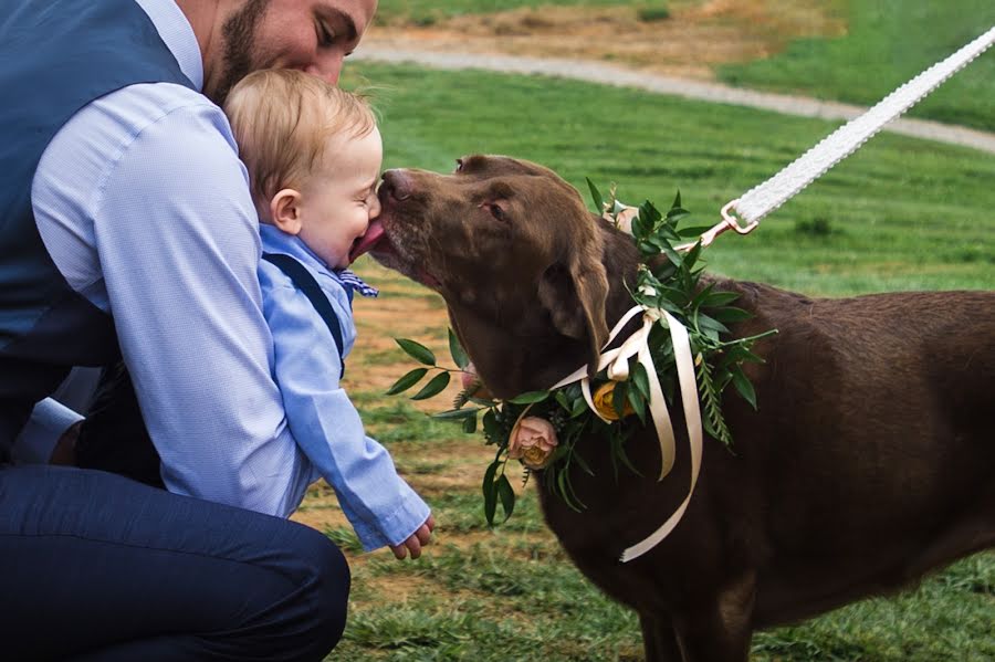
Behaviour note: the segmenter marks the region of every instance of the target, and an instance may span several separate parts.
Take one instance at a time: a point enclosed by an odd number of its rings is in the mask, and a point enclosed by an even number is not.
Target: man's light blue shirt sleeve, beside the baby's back
[[[220,109],[182,105],[140,127],[107,167],[93,219],[166,486],[286,516],[310,467],[272,378],[258,221]]]

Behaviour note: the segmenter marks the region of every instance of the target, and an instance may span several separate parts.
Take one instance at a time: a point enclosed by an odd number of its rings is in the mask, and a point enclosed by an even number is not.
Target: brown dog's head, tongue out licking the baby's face
[[[475,155],[451,175],[388,170],[379,196],[385,239],[373,256],[442,295],[496,395],[495,372],[523,344],[559,338],[597,357],[608,335],[607,223],[555,172]]]

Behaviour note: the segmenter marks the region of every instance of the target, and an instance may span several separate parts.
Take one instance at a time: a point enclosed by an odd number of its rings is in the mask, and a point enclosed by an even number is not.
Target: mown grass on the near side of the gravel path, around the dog
[[[415,67],[350,67],[375,83],[385,167],[450,170],[463,154],[543,162],[624,199],[670,202],[680,189],[701,223],[828,134],[834,125],[744,108],[551,78]],[[811,294],[995,288],[995,156],[900,136],[874,138],[748,238],[709,249],[713,271]],[[364,259],[380,298],[357,302],[359,340],[347,387],[370,432],[432,505],[436,544],[416,563],[362,554],[327,486],[296,517],[326,530],[350,559],[345,638],[329,660],[635,661],[635,616],[573,568],[542,523],[533,487],[514,516],[484,523],[482,439],[383,393],[411,366],[391,338],[446,356],[441,300]],[[763,403],[761,403],[763,406]],[[995,659],[995,555],[965,559],[921,587],[754,639],[761,661]]]

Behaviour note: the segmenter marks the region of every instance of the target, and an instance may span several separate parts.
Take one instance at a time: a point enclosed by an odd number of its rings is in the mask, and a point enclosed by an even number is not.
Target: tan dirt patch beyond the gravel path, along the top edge
[[[794,39],[846,31],[838,2],[709,0],[672,2],[663,20],[637,7],[544,7],[460,15],[431,25],[375,25],[365,44],[398,50],[503,53],[610,61],[710,80],[712,67],[768,57]]]

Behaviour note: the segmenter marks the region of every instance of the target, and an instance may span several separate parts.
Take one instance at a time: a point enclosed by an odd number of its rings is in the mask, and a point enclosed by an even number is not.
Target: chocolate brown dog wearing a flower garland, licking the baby
[[[496,397],[547,388],[591,361],[631,306],[638,253],[553,171],[505,157],[458,162],[452,175],[384,175],[373,255],[442,295]],[[734,335],[779,333],[754,347],[765,359],[748,368],[758,411],[725,398],[735,454],[705,439],[677,529],[618,560],[687,494],[680,411],[663,481],[647,429],[627,446],[646,477],[616,480],[607,444],[584,439],[596,475],[572,481],[587,508],[538,490],[577,567],[639,613],[652,661],[745,660],[756,629],[901,588],[995,544],[995,292],[827,300],[719,288],[754,315]]]

